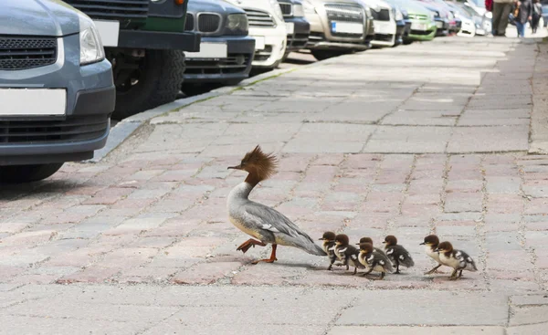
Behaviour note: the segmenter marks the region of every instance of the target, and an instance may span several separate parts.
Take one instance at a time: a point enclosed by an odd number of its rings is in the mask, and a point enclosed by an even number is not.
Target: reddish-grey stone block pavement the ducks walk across
[[[454,37],[333,58],[155,118],[103,162],[5,186],[0,319],[45,333],[239,333],[240,313],[265,334],[540,331],[547,301],[529,294],[548,289],[548,158],[527,154],[538,51]],[[258,143],[280,166],[253,200],[314,238],[394,234],[416,267],[369,281],[288,247],[251,266],[269,247],[236,251],[248,236],[226,197],[245,173],[227,166]],[[479,272],[424,276],[430,233]]]

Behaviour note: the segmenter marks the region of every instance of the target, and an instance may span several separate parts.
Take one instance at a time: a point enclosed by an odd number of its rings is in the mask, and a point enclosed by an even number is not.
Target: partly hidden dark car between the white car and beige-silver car
[[[287,58],[291,51],[299,51],[306,47],[311,35],[311,24],[304,17],[304,9],[300,0],[278,0],[278,2],[288,32],[284,55],[284,58]]]

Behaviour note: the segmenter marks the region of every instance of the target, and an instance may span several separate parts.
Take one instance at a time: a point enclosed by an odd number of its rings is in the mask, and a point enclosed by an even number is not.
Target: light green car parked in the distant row
[[[416,0],[385,0],[400,8],[406,21],[411,21],[411,30],[404,37],[404,44],[413,41],[430,41],[436,37],[434,13]]]

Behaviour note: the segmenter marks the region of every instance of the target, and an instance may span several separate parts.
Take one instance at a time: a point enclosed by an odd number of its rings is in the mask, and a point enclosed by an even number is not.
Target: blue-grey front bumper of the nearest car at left
[[[0,165],[87,159],[105,145],[116,99],[111,63],[80,67],[74,46],[78,35],[58,38],[55,64],[0,71],[0,87],[66,91],[64,115],[0,116]]]

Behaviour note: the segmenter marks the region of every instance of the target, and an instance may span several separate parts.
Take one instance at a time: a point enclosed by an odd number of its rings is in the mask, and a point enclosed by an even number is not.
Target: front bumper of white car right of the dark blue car
[[[274,68],[285,54],[287,39],[285,26],[279,25],[276,28],[251,27],[249,28],[249,36],[256,39],[252,66],[254,68]],[[257,40],[260,40],[261,43],[258,43]]]

